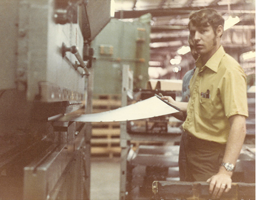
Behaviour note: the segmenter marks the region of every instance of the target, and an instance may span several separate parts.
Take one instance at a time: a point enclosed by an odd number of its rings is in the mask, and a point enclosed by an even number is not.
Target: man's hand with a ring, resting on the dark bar
[[[231,189],[231,175],[225,173],[217,173],[211,176],[207,182],[210,182],[209,193],[212,198],[219,198],[222,192],[228,192]]]

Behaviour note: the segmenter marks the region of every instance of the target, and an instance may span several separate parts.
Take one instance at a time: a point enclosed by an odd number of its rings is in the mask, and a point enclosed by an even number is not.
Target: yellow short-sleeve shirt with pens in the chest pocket
[[[248,116],[244,71],[222,46],[204,66],[199,57],[196,66],[183,128],[198,138],[226,143],[228,117]]]

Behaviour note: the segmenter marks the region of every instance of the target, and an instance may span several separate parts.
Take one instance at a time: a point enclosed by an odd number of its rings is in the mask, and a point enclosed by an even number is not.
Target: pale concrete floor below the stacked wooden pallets
[[[119,177],[119,157],[92,157],[90,200],[118,200]]]

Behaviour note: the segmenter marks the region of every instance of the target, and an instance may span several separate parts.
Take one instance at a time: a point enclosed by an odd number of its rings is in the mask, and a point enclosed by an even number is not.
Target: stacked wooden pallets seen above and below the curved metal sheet
[[[121,107],[121,94],[94,94],[93,113]],[[120,156],[119,122],[92,122],[91,155]]]

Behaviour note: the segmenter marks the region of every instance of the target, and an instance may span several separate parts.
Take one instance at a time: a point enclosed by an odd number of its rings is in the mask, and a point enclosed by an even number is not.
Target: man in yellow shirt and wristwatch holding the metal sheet
[[[190,80],[189,102],[162,97],[187,112],[186,180],[210,182],[213,198],[231,188],[248,116],[245,74],[220,44],[223,26],[223,17],[213,9],[191,13],[188,27],[200,57]]]

